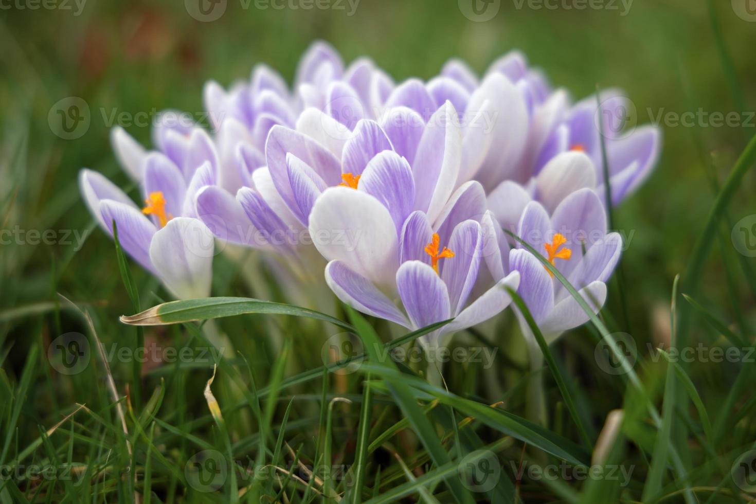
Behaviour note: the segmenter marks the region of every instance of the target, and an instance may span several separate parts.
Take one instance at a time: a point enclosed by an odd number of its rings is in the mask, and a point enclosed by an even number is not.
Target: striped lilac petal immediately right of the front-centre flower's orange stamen
[[[458,314],[475,285],[483,249],[483,233],[476,221],[460,222],[451,233],[449,249],[453,258],[442,260],[441,278],[449,292],[451,314]]]

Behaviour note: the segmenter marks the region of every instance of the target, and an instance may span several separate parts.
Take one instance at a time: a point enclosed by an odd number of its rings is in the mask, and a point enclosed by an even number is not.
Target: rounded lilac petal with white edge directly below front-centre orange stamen
[[[449,295],[444,282],[433,268],[420,261],[407,261],[396,272],[399,297],[419,329],[451,318]]]

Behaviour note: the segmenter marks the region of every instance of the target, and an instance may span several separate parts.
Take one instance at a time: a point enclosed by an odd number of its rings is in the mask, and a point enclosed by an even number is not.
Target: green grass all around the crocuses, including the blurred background
[[[756,212],[754,24],[710,0],[635,2],[627,16],[502,2],[488,23],[441,3],[363,0],[348,17],[228,2],[214,23],[166,1],[3,11],[0,504],[756,499],[745,479],[756,459],[754,259],[730,237]],[[508,310],[451,343],[497,351],[490,361],[445,363],[429,382],[410,357],[442,324],[404,335],[345,307],[298,308],[259,258],[252,286],[218,255],[218,297],[164,304],[76,187],[82,166],[132,187],[110,152],[109,118],[199,116],[206,79],[228,85],[260,61],[291,81],[315,38],[397,79],[429,78],[452,56],[482,71],[520,48],[575,97],[625,88],[640,122],[699,108],[745,121],[662,124],[662,161],[612,212],[629,238],[622,277],[598,316],[544,348],[544,369],[528,369]],[[91,116],[73,140],[48,126],[68,96]],[[123,125],[149,143],[148,125]],[[218,335],[233,352],[211,351]],[[600,364],[606,345],[625,373]],[[527,418],[534,377],[544,424]]]

